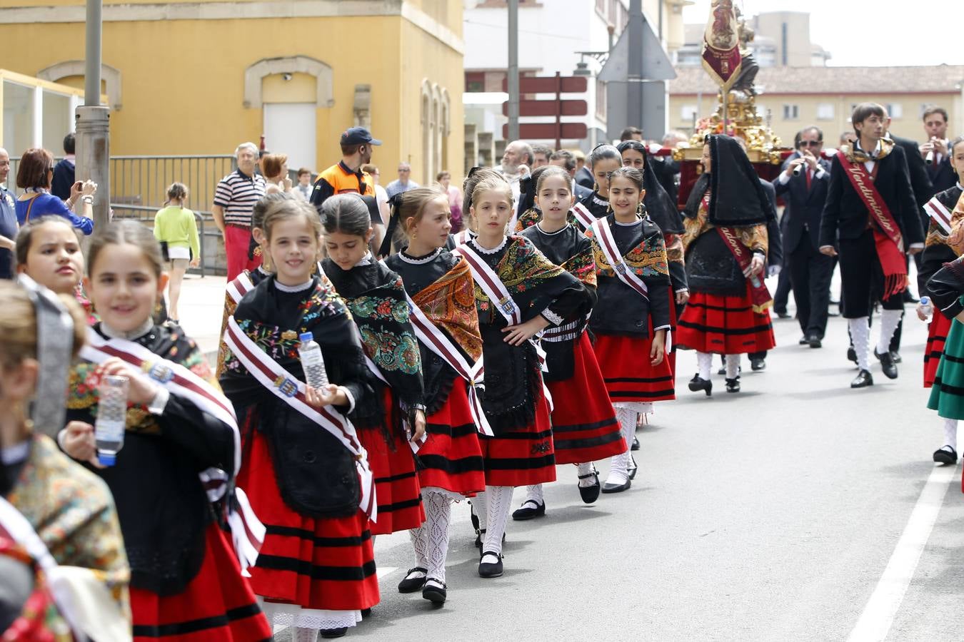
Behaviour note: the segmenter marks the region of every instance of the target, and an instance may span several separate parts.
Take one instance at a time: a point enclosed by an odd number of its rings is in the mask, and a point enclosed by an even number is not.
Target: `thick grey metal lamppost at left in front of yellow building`
[[[110,221],[109,109],[100,106],[101,0],[87,0],[84,105],[77,108],[77,180],[93,180],[94,228]]]

